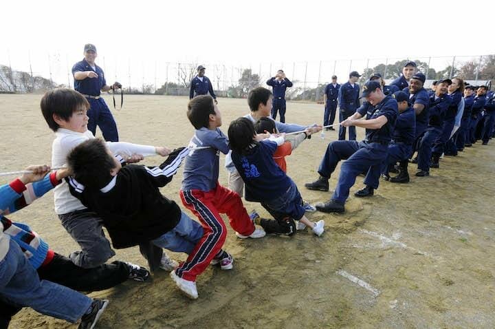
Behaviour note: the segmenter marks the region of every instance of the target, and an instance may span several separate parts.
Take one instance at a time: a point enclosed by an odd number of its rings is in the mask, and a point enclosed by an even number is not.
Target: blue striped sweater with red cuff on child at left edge
[[[13,223],[4,215],[28,206],[58,183],[56,173],[53,172],[38,182],[23,184],[17,179],[0,187],[0,260],[8,253],[10,239],[19,244],[34,268],[52,260],[53,251],[39,235],[31,231],[28,225]]]

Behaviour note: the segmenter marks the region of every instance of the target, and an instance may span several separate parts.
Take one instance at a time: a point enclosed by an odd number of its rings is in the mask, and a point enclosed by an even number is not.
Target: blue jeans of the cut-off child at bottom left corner
[[[38,273],[13,240],[0,262],[0,277],[1,298],[44,315],[74,323],[91,305],[92,300],[86,295],[50,281],[40,281]]]

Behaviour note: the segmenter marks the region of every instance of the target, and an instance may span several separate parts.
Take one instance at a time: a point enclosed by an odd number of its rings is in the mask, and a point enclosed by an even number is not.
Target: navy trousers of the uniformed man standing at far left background
[[[89,101],[88,130],[96,136],[96,126],[100,127],[104,140],[108,142],[118,142],[118,132],[115,120],[103,98],[93,99],[86,98]]]

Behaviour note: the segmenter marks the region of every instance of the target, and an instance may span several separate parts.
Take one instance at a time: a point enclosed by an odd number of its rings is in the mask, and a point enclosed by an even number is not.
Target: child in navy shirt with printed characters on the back
[[[314,223],[305,217],[303,200],[296,184],[273,159],[284,137],[257,141],[254,125],[248,118],[232,121],[228,136],[232,162],[246,184],[246,200],[261,202],[276,220],[291,217],[309,226],[316,235],[322,235],[325,222]]]

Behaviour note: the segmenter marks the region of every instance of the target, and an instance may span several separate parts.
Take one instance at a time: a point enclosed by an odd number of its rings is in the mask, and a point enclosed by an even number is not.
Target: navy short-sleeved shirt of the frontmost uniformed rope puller
[[[385,98],[375,107],[370,106],[368,112],[364,112],[362,109],[363,107],[360,107],[358,112],[362,116],[366,115],[366,120],[375,119],[379,116],[386,116],[387,118],[387,123],[380,129],[366,129],[366,141],[390,142],[395,128],[395,121],[399,115],[397,100],[392,98],[392,96],[385,96]]]

